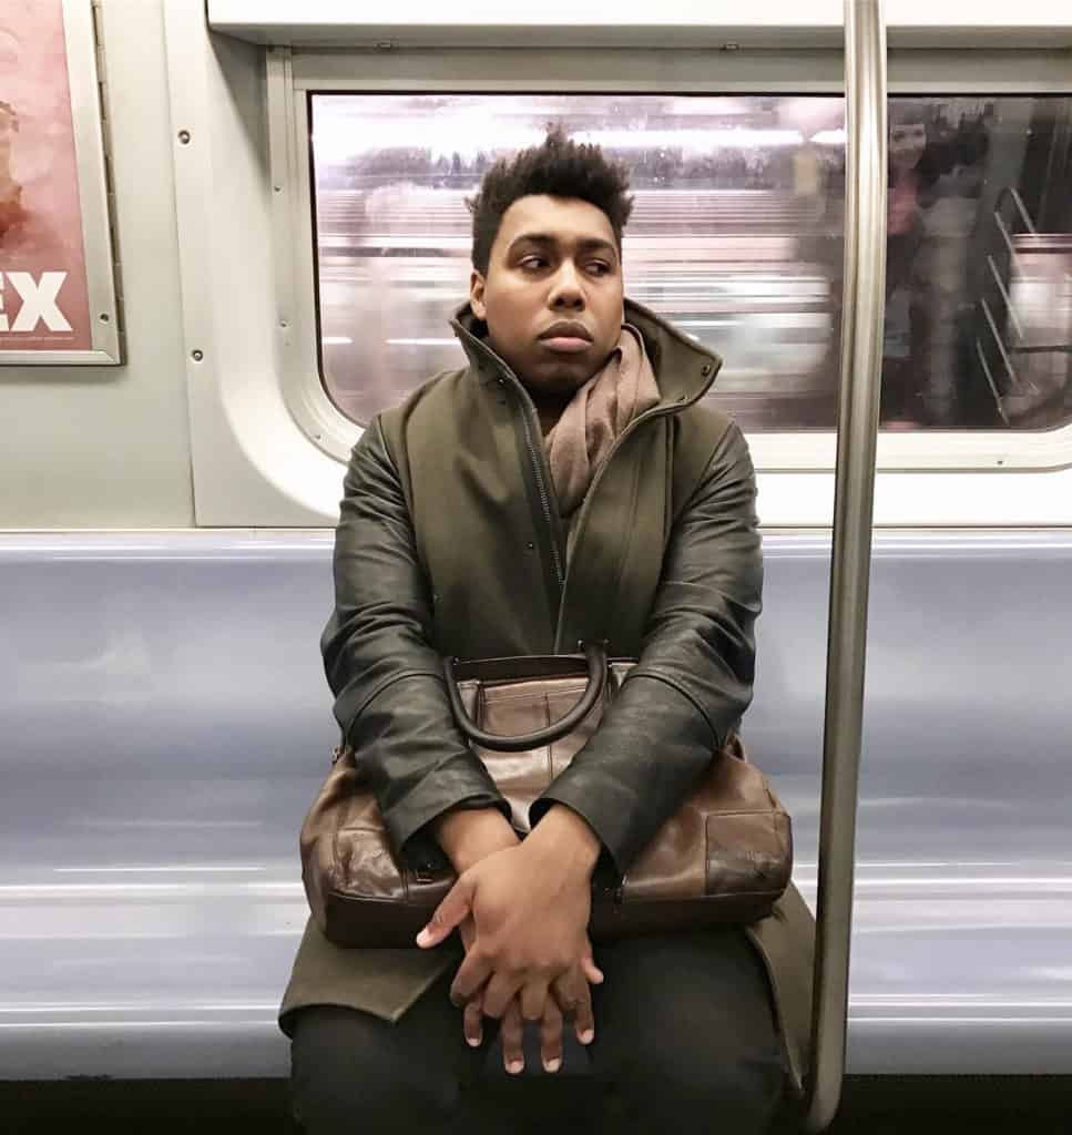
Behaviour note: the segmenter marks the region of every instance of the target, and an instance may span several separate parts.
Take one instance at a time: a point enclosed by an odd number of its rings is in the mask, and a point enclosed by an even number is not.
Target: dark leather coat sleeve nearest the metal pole
[[[536,800],[579,813],[623,874],[752,700],[763,581],[755,473],[731,424],[671,531],[638,663],[600,728]]]

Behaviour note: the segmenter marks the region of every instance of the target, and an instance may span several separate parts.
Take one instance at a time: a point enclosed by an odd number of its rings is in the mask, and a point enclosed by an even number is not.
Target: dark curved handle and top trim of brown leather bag
[[[446,679],[446,696],[451,703],[451,712],[458,722],[458,728],[483,749],[492,749],[496,753],[524,753],[526,749],[535,749],[544,745],[559,741],[567,733],[572,732],[588,714],[593,711],[603,691],[606,689],[606,646],[603,642],[580,644],[584,650],[585,662],[588,670],[588,682],[585,692],[572,709],[559,721],[553,722],[544,729],[538,729],[533,733],[524,733],[519,737],[503,737],[499,733],[486,733],[466,712],[462,705],[461,693],[458,689],[458,674],[455,672],[454,658],[443,659],[443,675]],[[512,669],[510,663],[513,663]],[[522,666],[527,663],[528,666]],[[569,667],[563,673],[563,663]],[[479,671],[485,673],[485,681],[496,679],[505,681],[508,678],[517,681],[519,678],[563,678],[571,676],[578,671],[578,659],[571,655],[548,655],[546,657],[534,658],[494,658],[485,662],[462,663],[459,670],[467,672],[469,678],[479,678]],[[529,673],[519,673],[525,669]],[[474,673],[477,671],[477,673]]]

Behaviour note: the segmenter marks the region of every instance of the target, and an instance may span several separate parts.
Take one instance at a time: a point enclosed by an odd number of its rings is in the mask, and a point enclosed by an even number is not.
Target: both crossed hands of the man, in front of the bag
[[[480,1044],[485,1016],[501,1018],[503,1062],[519,1073],[524,1022],[538,1020],[544,1068],[556,1071],[564,1017],[573,1016],[581,1044],[595,1035],[589,983],[600,984],[603,974],[593,960],[587,927],[600,844],[585,821],[561,805],[524,842],[496,816],[502,824],[485,823],[483,846],[477,836],[468,854],[452,856],[457,866],[471,865],[459,872],[417,944],[430,949],[457,927],[466,957],[451,1001],[463,1007],[467,1042]],[[494,830],[491,843],[488,827]]]

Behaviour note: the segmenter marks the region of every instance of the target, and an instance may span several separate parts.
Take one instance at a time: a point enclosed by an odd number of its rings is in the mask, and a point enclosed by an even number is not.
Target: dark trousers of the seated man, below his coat
[[[739,930],[597,945],[595,1041],[569,1026],[548,1074],[526,1026],[526,1066],[502,1071],[497,1022],[470,1049],[449,1000],[453,972],[391,1025],[313,1006],[291,1046],[294,1113],[309,1135],[543,1133],[752,1135],[767,1130],[782,1066],[770,987]],[[553,1125],[553,1126],[550,1126]]]

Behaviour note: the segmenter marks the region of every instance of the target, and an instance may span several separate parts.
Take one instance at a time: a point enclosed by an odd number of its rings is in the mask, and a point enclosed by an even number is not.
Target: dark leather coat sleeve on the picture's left
[[[442,863],[426,824],[503,799],[454,724],[432,639],[429,585],[379,420],[354,446],[335,532],[335,611],[320,639],[335,718],[369,775],[394,847]]]

